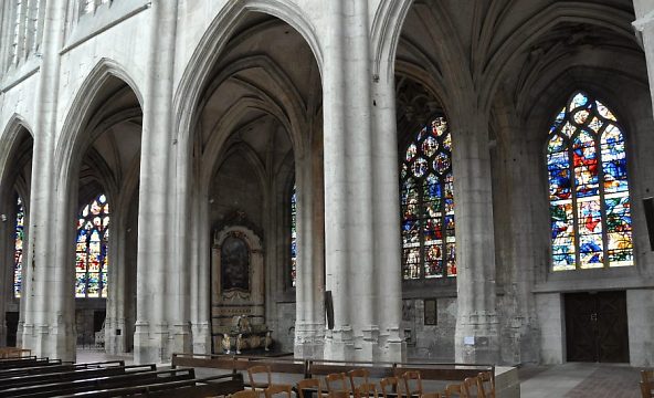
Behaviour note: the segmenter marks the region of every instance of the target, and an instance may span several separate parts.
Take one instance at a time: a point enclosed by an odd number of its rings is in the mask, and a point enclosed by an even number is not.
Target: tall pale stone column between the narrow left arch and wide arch
[[[144,124],[140,166],[137,321],[134,336],[136,363],[161,363],[170,359],[169,318],[178,322],[179,274],[169,264],[175,259],[172,163],[172,77],[178,1],[151,4],[148,82],[144,98]],[[170,273],[169,273],[170,272]],[[173,289],[173,290],[171,290]],[[177,301],[177,302],[176,302]],[[176,328],[173,335],[178,335]]]

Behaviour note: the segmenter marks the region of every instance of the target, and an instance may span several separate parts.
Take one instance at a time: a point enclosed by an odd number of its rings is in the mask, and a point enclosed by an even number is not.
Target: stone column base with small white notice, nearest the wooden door
[[[497,315],[476,313],[461,316],[454,335],[454,358],[465,364],[499,364]]]

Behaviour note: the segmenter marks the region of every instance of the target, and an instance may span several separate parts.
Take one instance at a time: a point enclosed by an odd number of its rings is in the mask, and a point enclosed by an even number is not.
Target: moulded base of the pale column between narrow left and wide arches
[[[168,336],[168,325],[150,326],[147,322],[137,321],[134,333],[134,362],[136,364],[170,363]]]

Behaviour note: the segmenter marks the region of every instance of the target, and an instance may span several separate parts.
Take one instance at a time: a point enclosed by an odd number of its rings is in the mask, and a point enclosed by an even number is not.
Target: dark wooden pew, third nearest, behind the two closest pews
[[[30,385],[48,384],[53,381],[73,381],[103,376],[117,376],[156,370],[156,365],[129,365],[110,366],[105,368],[77,369],[72,371],[61,371],[45,375],[28,375],[2,379],[0,384],[0,397],[9,388],[23,387]]]

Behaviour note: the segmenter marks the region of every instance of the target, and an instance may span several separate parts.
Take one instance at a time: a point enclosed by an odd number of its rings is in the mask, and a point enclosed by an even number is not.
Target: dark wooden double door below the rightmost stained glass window
[[[626,293],[570,293],[566,302],[569,362],[629,362]]]

